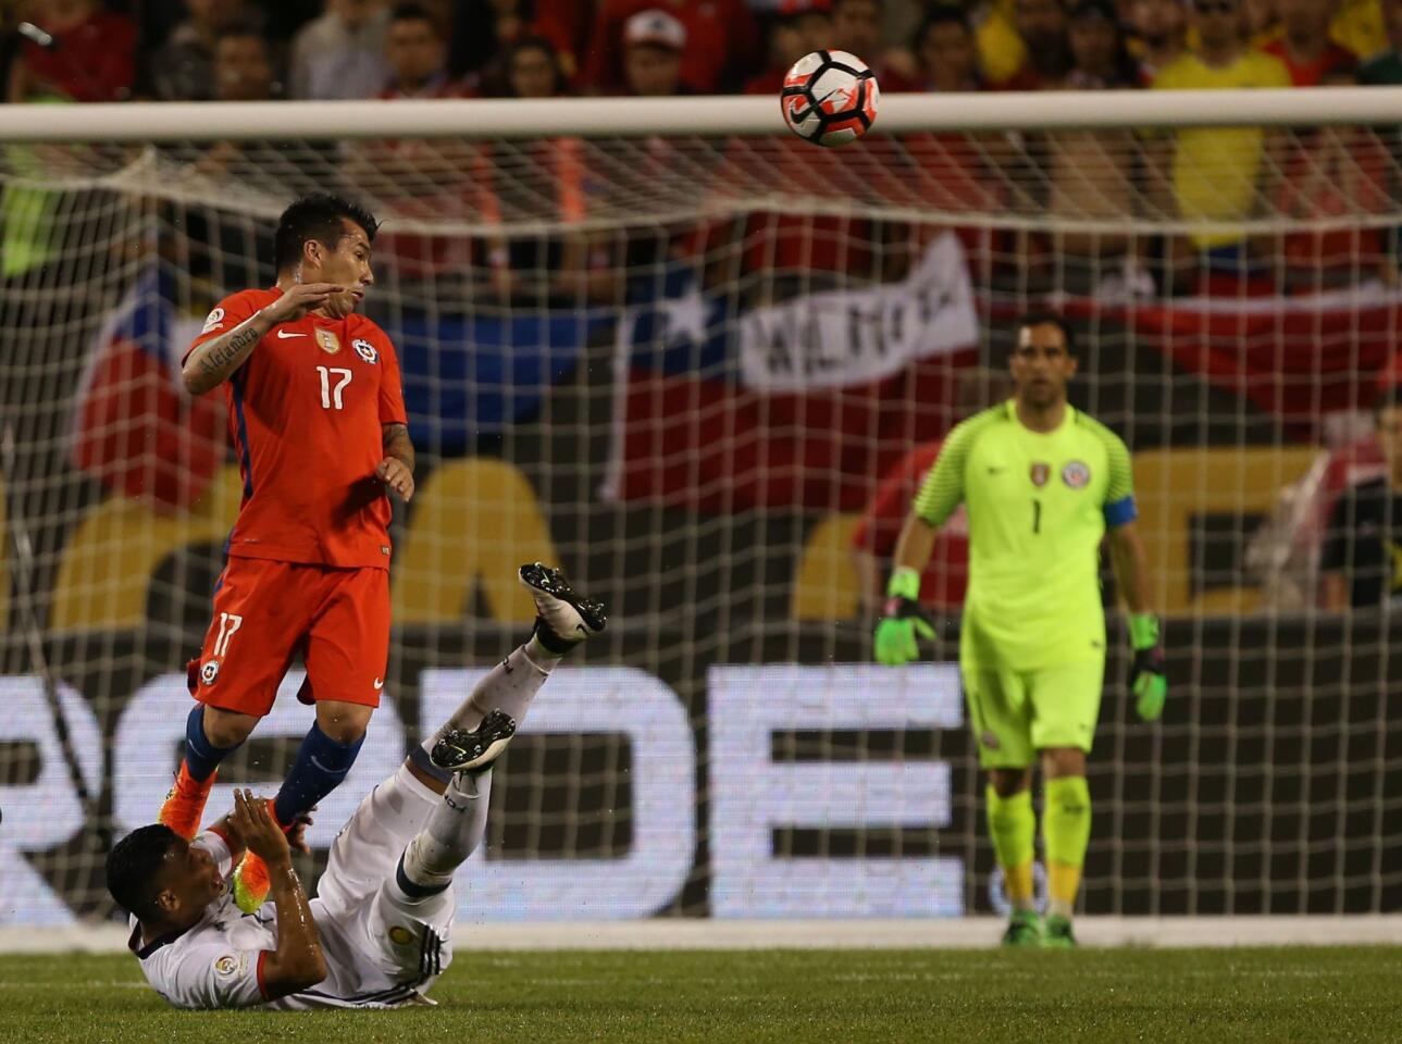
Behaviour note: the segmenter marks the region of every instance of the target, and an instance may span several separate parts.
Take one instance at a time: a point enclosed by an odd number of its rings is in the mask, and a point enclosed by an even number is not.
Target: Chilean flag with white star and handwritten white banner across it
[[[953,422],[979,321],[956,235],[901,280],[747,305],[686,265],[618,322],[603,495],[704,511],[852,511]]]

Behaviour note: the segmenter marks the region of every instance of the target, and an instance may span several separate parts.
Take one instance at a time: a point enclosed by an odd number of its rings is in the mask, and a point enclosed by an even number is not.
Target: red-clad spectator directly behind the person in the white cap
[[[686,28],[681,83],[693,94],[737,87],[758,69],[760,34],[746,0],[599,0],[585,62],[585,84],[590,90],[601,94],[625,90],[624,25],[648,10],[666,11]]]

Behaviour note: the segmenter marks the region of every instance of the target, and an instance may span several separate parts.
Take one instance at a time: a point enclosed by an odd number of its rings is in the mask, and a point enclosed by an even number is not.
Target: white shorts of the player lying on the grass
[[[440,800],[401,767],[342,827],[311,901],[327,980],[310,992],[353,1006],[402,1003],[447,968],[453,888],[412,898],[395,881],[404,846]]]

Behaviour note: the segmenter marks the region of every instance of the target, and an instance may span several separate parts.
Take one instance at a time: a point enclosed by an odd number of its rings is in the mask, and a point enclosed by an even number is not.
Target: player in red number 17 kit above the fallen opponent
[[[185,355],[195,395],[224,385],[244,479],[199,659],[199,701],[160,821],[199,828],[216,769],[272,709],[294,656],[317,720],[272,802],[285,828],[350,771],[380,702],[390,647],[390,502],[414,496],[398,357],[355,308],[374,282],[377,223],[328,195],[289,206],[273,237],[278,284],[219,303]],[[266,867],[248,856],[236,898],[257,909]]]

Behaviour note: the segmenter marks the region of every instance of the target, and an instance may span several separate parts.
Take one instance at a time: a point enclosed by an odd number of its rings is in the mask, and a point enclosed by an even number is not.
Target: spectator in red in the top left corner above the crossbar
[[[95,0],[34,0],[31,21],[50,38],[25,39],[6,99],[125,101],[136,83],[136,25]]]

